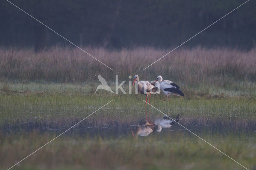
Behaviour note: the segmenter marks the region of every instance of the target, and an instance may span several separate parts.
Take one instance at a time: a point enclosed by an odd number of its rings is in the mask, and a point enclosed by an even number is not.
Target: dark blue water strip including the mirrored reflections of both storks
[[[128,113],[127,113],[128,115]],[[132,119],[124,119],[123,117],[97,117],[95,119],[86,119],[66,132],[66,135],[79,134],[82,136],[148,136],[153,132],[160,132],[161,135],[169,134],[170,131],[185,130],[175,122],[179,121],[181,125],[190,129],[196,134],[201,133],[220,133],[220,134],[256,134],[256,121],[252,117],[208,117],[198,115],[179,115],[171,117],[176,119],[172,121],[167,117],[159,118],[160,115],[148,114],[148,122],[142,117],[130,116]],[[149,119],[150,118],[150,119]],[[22,120],[6,120],[0,123],[1,134],[10,134],[12,132],[22,134],[24,132],[51,132],[60,134],[72,127],[82,117],[62,117],[58,119],[22,119]],[[139,123],[139,120],[142,120]],[[176,124],[176,125],[174,125]],[[162,129],[163,128],[163,129]],[[164,130],[164,128],[169,128]]]

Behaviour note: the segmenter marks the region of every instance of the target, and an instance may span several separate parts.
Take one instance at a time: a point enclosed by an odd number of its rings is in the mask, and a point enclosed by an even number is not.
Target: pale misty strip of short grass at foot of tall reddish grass
[[[120,82],[123,81],[119,79]],[[122,85],[122,88],[126,93],[129,92],[128,81]],[[96,88],[101,83],[94,81],[91,83],[0,83],[0,94],[38,94],[38,95],[50,95],[50,94],[88,94],[93,95]],[[108,84],[114,93],[116,92],[113,83]],[[244,97],[248,99],[256,99],[256,83],[241,82],[233,84],[230,88],[224,88],[221,86],[204,85],[197,86],[184,86],[183,83],[179,84],[181,90],[185,94],[186,99],[204,98],[204,99],[223,99],[228,97]],[[132,94],[135,93],[135,88],[132,88]],[[112,93],[99,90],[96,95],[110,95]],[[122,95],[122,91],[118,91],[118,95]],[[113,96],[116,94],[113,94]],[[158,95],[156,95],[158,96]],[[164,96],[161,96],[164,98]]]

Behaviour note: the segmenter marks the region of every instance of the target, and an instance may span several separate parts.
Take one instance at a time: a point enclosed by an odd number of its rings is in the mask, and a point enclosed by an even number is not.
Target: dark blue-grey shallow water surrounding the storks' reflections
[[[158,117],[150,117],[152,123]],[[34,130],[39,132],[51,132],[60,134],[78,123],[81,119],[73,118],[70,121],[70,118],[67,120],[62,119],[62,121],[50,121],[50,120],[38,120],[38,119],[28,119],[22,121],[8,122],[5,121],[0,125],[0,131],[3,134],[9,134],[14,132],[19,134],[20,132],[32,132]],[[145,127],[145,120],[134,120],[130,122],[119,122],[119,119],[104,120],[104,119],[88,119],[84,120],[73,128],[71,128],[66,134],[90,134],[91,136],[100,135],[100,136],[123,136],[130,135],[131,130],[136,132],[138,127]],[[180,125],[179,125],[179,124]],[[187,131],[184,127],[188,128],[192,132],[197,134],[204,133],[219,133],[219,134],[256,134],[256,122],[250,119],[236,119],[236,117],[180,117],[178,123],[174,123],[172,127],[162,128],[160,133],[172,133],[173,131]],[[183,125],[184,127],[182,127]],[[150,127],[150,126],[149,126]],[[154,125],[151,125],[154,127]],[[157,127],[157,125],[156,125]],[[157,128],[156,128],[157,129]],[[154,133],[159,133],[153,130]],[[190,132],[188,132],[190,133]],[[149,134],[150,135],[150,134]],[[139,135],[140,136],[140,135]]]

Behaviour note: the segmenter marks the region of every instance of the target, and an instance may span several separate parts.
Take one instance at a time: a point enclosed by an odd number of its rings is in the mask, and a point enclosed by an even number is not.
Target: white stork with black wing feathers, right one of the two
[[[180,87],[178,85],[176,85],[175,83],[173,83],[172,81],[170,81],[170,80],[164,80],[163,81],[163,77],[161,75],[159,75],[156,78],[156,81],[154,83],[156,83],[157,81],[158,81],[158,83],[160,85],[160,89],[166,95],[166,99],[164,99],[162,101],[166,101],[167,97],[168,97],[168,99],[170,101],[169,95],[176,95],[176,96],[184,97],[184,94],[180,90]]]

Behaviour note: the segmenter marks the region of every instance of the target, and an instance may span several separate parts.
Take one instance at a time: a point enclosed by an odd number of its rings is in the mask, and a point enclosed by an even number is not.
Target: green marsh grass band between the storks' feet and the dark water
[[[158,102],[161,96],[152,96],[151,103],[166,114],[182,114],[186,117],[202,116],[240,116],[252,118],[256,111],[255,99],[246,97],[233,98],[179,98],[171,97],[171,102]],[[113,100],[112,103],[103,108],[110,115],[127,116],[127,112],[134,115],[144,113],[144,95],[92,95],[86,93],[54,94],[54,93],[14,93],[12,95],[2,94],[0,96],[0,120],[26,120],[37,117],[37,119],[60,119],[63,117],[82,118],[92,113],[100,106]],[[148,107],[154,115],[157,111]],[[108,117],[109,114],[100,114]],[[131,118],[132,119],[132,118]]]

